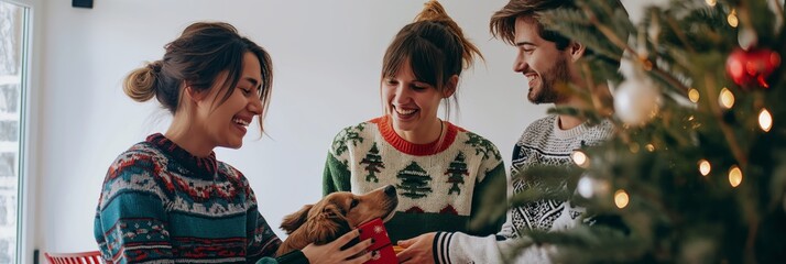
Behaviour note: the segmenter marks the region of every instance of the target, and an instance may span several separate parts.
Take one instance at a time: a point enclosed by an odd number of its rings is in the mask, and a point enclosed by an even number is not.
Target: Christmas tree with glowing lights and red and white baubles
[[[575,3],[542,22],[592,50],[582,75],[590,87],[612,84],[614,111],[592,89],[572,89],[594,109],[549,112],[619,130],[577,150],[572,167],[523,172],[567,186],[530,189],[512,206],[569,199],[620,224],[531,231],[521,249],[554,244],[567,263],[786,263],[784,1],[676,0],[637,23],[610,1]]]

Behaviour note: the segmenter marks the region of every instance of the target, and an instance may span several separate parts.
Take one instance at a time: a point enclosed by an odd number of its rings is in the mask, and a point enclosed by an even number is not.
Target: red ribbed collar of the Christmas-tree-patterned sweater
[[[391,144],[393,147],[400,152],[415,155],[415,156],[427,156],[440,153],[447,150],[454,141],[456,141],[456,135],[459,131],[465,131],[463,129],[451,124],[450,122],[445,122],[447,125],[447,132],[445,133],[444,140],[440,143],[439,140],[426,143],[426,144],[415,144],[402,139],[393,130],[393,123],[390,121],[389,117],[380,117],[372,119],[369,122],[375,123],[376,128],[380,130],[382,138]]]

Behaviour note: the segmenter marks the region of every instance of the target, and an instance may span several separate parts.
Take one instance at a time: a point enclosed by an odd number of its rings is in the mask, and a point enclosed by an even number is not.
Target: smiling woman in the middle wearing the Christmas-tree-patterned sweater
[[[482,55],[437,1],[425,3],[387,47],[380,94],[384,114],[336,135],[324,195],[396,187],[399,207],[385,227],[393,243],[433,231],[494,233],[470,228],[480,199],[505,202],[505,170],[496,146],[437,117],[450,114],[461,72]]]

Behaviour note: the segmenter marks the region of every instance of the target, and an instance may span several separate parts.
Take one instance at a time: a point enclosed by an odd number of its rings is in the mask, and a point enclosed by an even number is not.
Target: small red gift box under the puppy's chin
[[[358,227],[360,229],[360,240],[374,239],[374,243],[369,246],[369,251],[375,251],[372,253],[371,261],[365,262],[367,264],[395,264],[399,263],[399,258],[395,257],[395,252],[393,252],[393,245],[391,244],[391,238],[387,237],[387,230],[385,229],[382,219],[373,219]]]

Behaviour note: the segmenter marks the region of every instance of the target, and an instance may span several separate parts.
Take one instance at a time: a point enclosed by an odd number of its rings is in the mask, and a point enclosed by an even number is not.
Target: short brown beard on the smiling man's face
[[[570,78],[568,73],[568,59],[558,56],[554,66],[541,75],[541,90],[535,91],[530,87],[527,99],[533,103],[563,102],[567,98],[567,82]],[[558,87],[558,86],[565,87]]]

